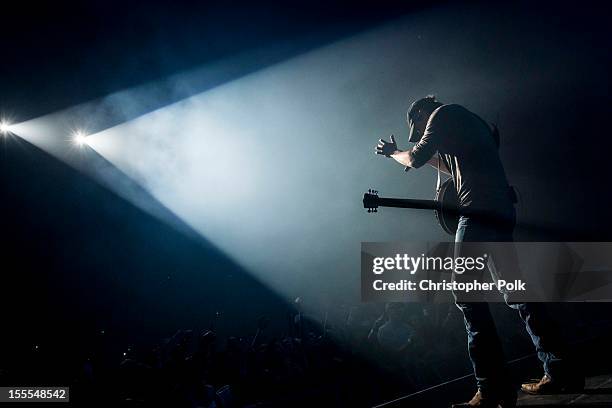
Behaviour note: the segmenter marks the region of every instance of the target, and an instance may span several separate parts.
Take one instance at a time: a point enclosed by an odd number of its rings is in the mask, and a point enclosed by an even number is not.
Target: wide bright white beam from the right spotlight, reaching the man
[[[370,184],[402,191],[401,174],[381,182],[392,170],[372,146],[382,123],[405,129],[402,109],[431,92],[404,79],[418,78],[418,65],[396,59],[416,37],[406,25],[347,39],[92,134],[89,145],[278,293],[353,298],[360,241],[407,236],[402,223],[367,218],[359,197]],[[418,190],[431,191],[428,173]],[[411,217],[412,239],[441,238],[432,222]]]

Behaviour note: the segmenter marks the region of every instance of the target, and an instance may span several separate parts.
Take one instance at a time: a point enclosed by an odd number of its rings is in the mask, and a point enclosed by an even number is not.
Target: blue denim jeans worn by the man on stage
[[[455,256],[461,251],[461,242],[511,242],[514,215],[510,222],[491,224],[473,217],[461,217],[455,235]],[[518,265],[517,265],[518,267]],[[457,307],[464,316],[468,339],[468,353],[478,388],[482,392],[499,392],[511,387],[504,354],[488,303],[461,302],[455,294]],[[552,379],[563,381],[566,370],[566,347],[557,327],[546,314],[541,303],[506,304],[518,310],[527,332],[536,348],[544,372]]]

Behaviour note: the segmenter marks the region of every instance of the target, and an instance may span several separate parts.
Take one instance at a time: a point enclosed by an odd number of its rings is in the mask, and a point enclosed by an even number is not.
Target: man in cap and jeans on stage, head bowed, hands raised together
[[[512,241],[515,210],[511,189],[499,158],[499,138],[483,119],[466,108],[444,105],[433,96],[415,101],[407,115],[412,149],[397,148],[395,137],[380,139],[376,153],[393,158],[406,170],[425,163],[451,175],[461,207],[455,242]],[[487,214],[479,217],[478,214]],[[580,390],[584,377],[570,368],[561,336],[539,303],[511,303],[525,322],[544,376],[522,385],[531,394]],[[503,408],[516,406],[516,390],[507,375],[503,351],[489,306],[485,302],[462,302],[468,352],[478,391],[466,403],[453,407]]]

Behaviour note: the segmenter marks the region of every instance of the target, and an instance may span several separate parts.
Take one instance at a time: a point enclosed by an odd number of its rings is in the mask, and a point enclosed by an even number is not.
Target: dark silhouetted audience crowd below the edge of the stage
[[[358,407],[469,369],[462,322],[450,305],[342,310],[339,320],[313,316],[298,299],[283,335],[261,318],[249,336],[179,330],[117,359],[94,347],[70,368],[71,399],[88,406]]]

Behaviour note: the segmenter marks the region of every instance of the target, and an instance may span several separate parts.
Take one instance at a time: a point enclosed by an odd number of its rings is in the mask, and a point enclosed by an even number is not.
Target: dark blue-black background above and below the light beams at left
[[[0,26],[0,112],[21,122],[278,43],[290,57],[423,7],[19,2]],[[102,332],[118,349],[179,327],[249,334],[262,315],[286,331],[285,302],[202,239],[24,140],[1,150],[5,358],[36,346],[78,354]]]

